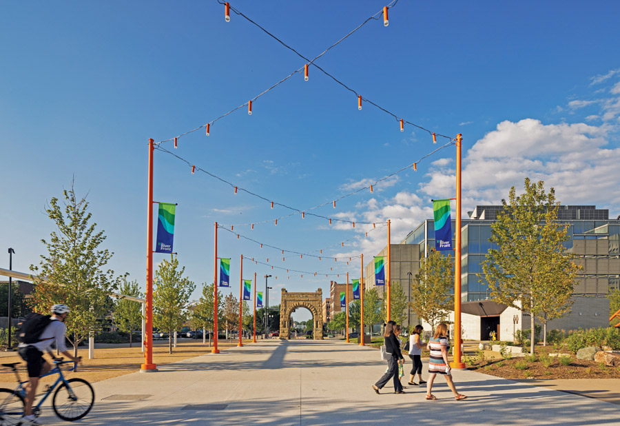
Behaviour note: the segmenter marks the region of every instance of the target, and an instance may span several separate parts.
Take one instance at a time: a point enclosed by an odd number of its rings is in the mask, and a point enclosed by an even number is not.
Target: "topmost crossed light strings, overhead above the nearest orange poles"
[[[325,53],[327,53],[329,50],[331,50],[333,47],[335,47],[335,45],[338,45],[338,43],[340,43],[341,41],[343,41],[344,39],[347,39],[347,37],[351,36],[351,34],[353,34],[354,32],[356,32],[357,30],[359,30],[360,28],[362,28],[362,26],[364,26],[367,22],[371,21],[371,20],[378,20],[379,18],[376,18],[377,15],[383,13],[384,15],[384,26],[388,26],[388,9],[389,8],[393,8],[393,6],[395,6],[395,4],[397,3],[397,0],[392,1],[391,3],[389,3],[389,6],[384,6],[384,8],[382,9],[382,11],[377,12],[375,14],[373,14],[372,17],[366,19],[366,21],[364,21],[364,23],[362,23],[360,26],[358,26],[357,28],[355,28],[354,30],[352,30],[351,32],[349,32],[349,34],[347,34],[346,36],[342,37],[342,39],[340,39],[339,41],[337,41],[336,43],[333,43],[333,45],[331,45],[329,48],[327,48],[326,50],[324,50],[324,52],[322,52],[321,54],[319,54],[317,57],[315,57],[314,59],[308,59],[307,57],[304,57],[304,55],[300,54],[297,50],[291,48],[289,45],[287,45],[287,43],[285,43],[284,41],[278,39],[278,37],[276,37],[275,35],[271,34],[271,32],[265,30],[265,28],[263,28],[262,26],[260,26],[258,23],[254,22],[253,20],[249,19],[245,14],[243,14],[242,12],[240,12],[239,10],[235,9],[235,8],[231,8],[231,6],[229,5],[228,2],[223,3],[221,0],[217,0],[218,3],[220,4],[224,4],[225,5],[225,19],[226,21],[230,21],[230,10],[233,10],[236,14],[238,14],[239,16],[247,19],[247,21],[249,21],[250,23],[254,24],[255,26],[257,26],[258,28],[260,28],[260,30],[262,30],[263,32],[265,32],[266,34],[269,34],[270,37],[272,37],[273,39],[276,39],[280,44],[284,45],[286,48],[290,49],[291,51],[295,52],[300,58],[304,59],[304,61],[307,61],[307,63],[302,67],[302,68],[298,68],[297,70],[294,70],[293,72],[291,72],[291,74],[289,74],[287,77],[285,77],[284,79],[281,79],[280,81],[278,81],[278,83],[272,85],[270,88],[268,88],[267,90],[264,90],[263,92],[261,92],[260,94],[256,95],[255,97],[251,98],[251,100],[242,103],[241,105],[239,105],[238,107],[230,110],[229,112],[226,112],[225,114],[222,114],[220,116],[218,116],[216,119],[209,121],[208,123],[205,123],[203,125],[198,126],[195,129],[192,130],[188,130],[185,133],[179,134],[178,136],[174,136],[172,138],[169,139],[164,139],[163,141],[159,141],[157,143],[155,143],[155,145],[160,145],[161,143],[165,143],[165,142],[169,142],[169,141],[174,141],[174,148],[177,147],[177,143],[178,143],[178,138],[185,136],[187,134],[196,132],[197,130],[206,129],[206,135],[209,136],[209,132],[210,132],[210,127],[211,125],[213,125],[216,121],[223,119],[225,116],[232,114],[233,112],[235,112],[236,110],[239,110],[240,108],[244,108],[245,106],[247,106],[248,108],[248,114],[252,113],[252,103],[255,102],[257,99],[259,99],[260,97],[262,97],[264,94],[266,94],[267,92],[269,92],[270,90],[273,90],[274,88],[276,88],[278,85],[280,85],[281,83],[284,83],[285,81],[287,81],[288,79],[290,79],[291,77],[293,77],[293,75],[297,74],[298,72],[301,72],[302,70],[304,70],[304,79],[306,81],[308,81],[309,79],[309,64],[313,65],[316,69],[320,70],[320,72],[322,72],[323,74],[327,75],[327,77],[331,78],[333,81],[335,81],[336,83],[338,83],[339,85],[341,85],[343,88],[349,90],[349,92],[352,92],[353,94],[355,94],[355,97],[358,99],[358,109],[361,110],[362,109],[362,101],[370,103],[371,105],[375,106],[375,108],[378,108],[379,110],[382,110],[383,112],[385,112],[386,114],[389,114],[391,116],[393,116],[393,118],[396,121],[400,122],[400,131],[403,132],[404,131],[404,125],[408,124],[408,125],[413,125],[415,128],[418,128],[420,130],[424,130],[425,132],[428,132],[429,135],[433,136],[433,143],[437,142],[437,136],[449,139],[452,141],[452,137],[451,136],[446,136],[444,134],[440,134],[440,133],[436,133],[433,132],[432,130],[428,130],[427,128],[422,127],[421,125],[417,125],[416,123],[413,123],[409,120],[403,119],[401,116],[397,116],[397,114],[394,114],[393,112],[387,110],[386,108],[382,107],[381,105],[379,105],[378,103],[375,103],[373,101],[371,101],[370,99],[366,98],[366,97],[362,97],[362,95],[357,91],[354,90],[353,88],[350,88],[348,85],[342,83],[342,81],[340,81],[339,79],[336,79],[332,74],[329,74],[329,72],[325,71],[323,68],[321,68],[319,65],[317,65],[316,63],[314,63],[317,59],[319,59],[320,57],[322,57]]]

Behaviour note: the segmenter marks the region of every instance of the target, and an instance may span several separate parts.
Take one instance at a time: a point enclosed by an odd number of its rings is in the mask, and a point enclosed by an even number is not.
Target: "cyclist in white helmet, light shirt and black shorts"
[[[64,321],[69,314],[69,307],[67,305],[54,305],[51,312],[51,321],[41,333],[39,341],[30,345],[26,343],[19,344],[19,354],[26,361],[28,367],[24,416],[21,418],[20,425],[41,425],[34,417],[34,414],[32,414],[32,403],[34,402],[34,396],[37,394],[39,377],[52,369],[52,365],[43,359],[43,351],[48,352],[56,360],[56,356],[51,351],[52,345],[56,343],[59,352],[64,356],[76,363],[81,360],[79,356],[72,356],[65,345],[67,326],[64,324]]]

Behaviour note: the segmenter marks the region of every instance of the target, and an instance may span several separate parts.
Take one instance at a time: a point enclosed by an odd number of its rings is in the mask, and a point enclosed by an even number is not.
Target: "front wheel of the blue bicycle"
[[[67,383],[60,385],[54,392],[52,408],[56,416],[72,422],[90,412],[94,404],[94,390],[83,378],[70,378]]]

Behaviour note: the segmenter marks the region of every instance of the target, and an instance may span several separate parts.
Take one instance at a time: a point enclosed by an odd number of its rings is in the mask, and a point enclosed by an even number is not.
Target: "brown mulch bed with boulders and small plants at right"
[[[565,356],[570,356],[570,364],[564,365],[558,357],[551,357],[551,365],[545,367],[540,361],[540,356],[557,353],[550,347],[536,347],[536,361],[529,356],[504,359],[502,356],[480,360],[475,354],[468,355],[470,362],[466,363],[467,369],[511,380],[523,380],[535,378],[537,380],[555,380],[566,378],[620,378],[620,367],[608,367],[595,361],[587,361],[575,358],[575,354],[560,351]],[[487,357],[488,358],[488,357]],[[465,360],[466,361],[466,360]],[[517,368],[520,367],[520,368]]]

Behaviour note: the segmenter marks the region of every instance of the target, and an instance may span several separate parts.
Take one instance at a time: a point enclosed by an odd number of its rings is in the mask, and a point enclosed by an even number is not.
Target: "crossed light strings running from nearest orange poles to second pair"
[[[235,185],[234,183],[231,183],[230,181],[227,181],[226,179],[221,178],[220,176],[217,176],[216,174],[213,174],[211,172],[209,172],[208,170],[205,170],[203,168],[197,167],[195,164],[192,164],[190,161],[188,161],[187,159],[183,158],[182,156],[175,154],[172,151],[167,150],[166,148],[163,148],[161,145],[156,145],[156,147],[154,147],[155,150],[159,150],[161,152],[165,152],[166,154],[170,154],[172,156],[174,156],[176,159],[183,161],[184,163],[186,163],[189,168],[191,168],[192,170],[192,174],[194,174],[196,171],[198,172],[203,172],[211,177],[213,177],[214,179],[217,179],[218,181],[222,182],[222,183],[226,183],[227,185],[230,185],[230,187],[232,187],[234,189],[234,193],[237,194],[238,192],[242,191],[245,192],[251,196],[255,196],[258,199],[261,199],[263,201],[267,201],[267,203],[270,203],[271,208],[273,208],[274,206],[278,205],[280,207],[285,207],[288,210],[291,210],[292,213],[290,214],[286,214],[284,216],[280,216],[278,218],[275,219],[269,219],[266,221],[257,221],[257,222],[253,222],[253,223],[233,223],[233,224],[222,224],[223,226],[229,226],[231,227],[231,230],[234,230],[235,226],[251,226],[252,229],[254,229],[254,225],[260,225],[262,223],[275,223],[275,225],[278,225],[278,221],[281,221],[282,219],[286,219],[288,217],[291,216],[296,216],[297,214],[301,214],[302,215],[302,219],[305,219],[305,216],[308,214],[309,216],[315,216],[318,217],[320,219],[326,219],[327,221],[329,221],[329,225],[331,225],[332,221],[337,221],[337,222],[342,222],[342,223],[351,223],[351,225],[353,227],[355,227],[355,223],[358,223],[358,225],[373,225],[373,227],[376,227],[376,225],[384,225],[385,222],[359,222],[359,221],[349,221],[347,219],[340,219],[340,218],[334,218],[334,217],[329,217],[329,216],[323,216],[321,214],[316,214],[316,213],[312,213],[311,210],[315,210],[318,209],[319,207],[324,207],[325,205],[333,205],[333,207],[335,208],[336,203],[338,203],[338,201],[341,201],[343,199],[346,199],[349,196],[352,196],[354,194],[358,194],[362,191],[365,190],[370,190],[370,192],[372,193],[374,190],[374,187],[376,187],[378,184],[380,184],[383,181],[386,181],[387,179],[390,179],[392,176],[395,176],[399,173],[404,172],[405,170],[411,169],[413,168],[414,171],[417,171],[417,165],[422,162],[424,159],[428,158],[429,156],[435,154],[435,152],[442,150],[444,148],[447,148],[448,146],[453,145],[453,140],[451,140],[448,143],[445,143],[444,145],[441,145],[440,147],[436,148],[435,150],[428,152],[428,154],[425,154],[424,156],[420,157],[420,159],[418,159],[417,161],[415,161],[414,163],[411,163],[409,165],[404,166],[403,168],[400,168],[399,170],[396,170],[395,172],[391,173],[391,174],[387,174],[386,176],[382,177],[381,179],[378,179],[377,181],[375,181],[374,183],[367,185],[367,186],[363,186],[358,188],[357,190],[354,190],[352,192],[349,192],[348,194],[344,194],[338,198],[333,199],[332,201],[326,201],[325,203],[319,204],[319,205],[315,205],[313,207],[309,207],[307,209],[304,210],[300,210],[296,207],[291,207],[289,205],[283,204],[283,203],[279,203],[277,201],[271,201],[270,199],[267,199],[265,196],[262,196],[260,194],[256,194],[256,192],[251,192],[250,190],[245,189],[244,187],[240,187],[238,185]]]

